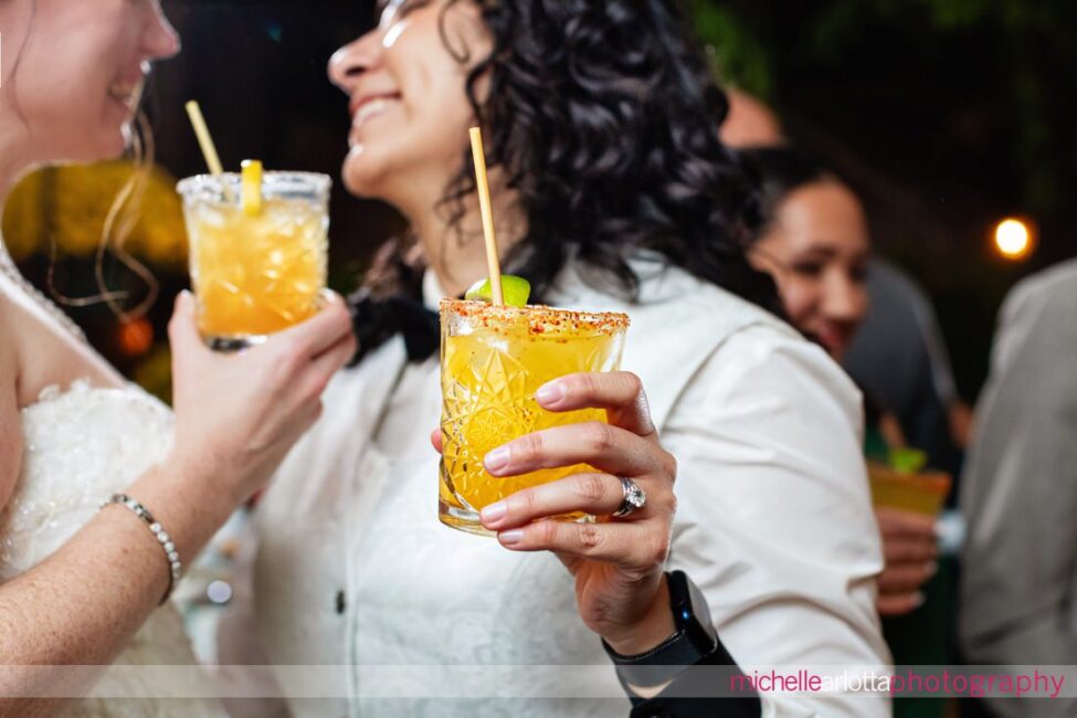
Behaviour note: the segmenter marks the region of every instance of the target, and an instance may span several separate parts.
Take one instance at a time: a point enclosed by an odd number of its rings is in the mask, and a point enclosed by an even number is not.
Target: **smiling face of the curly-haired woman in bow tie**
[[[475,122],[467,74],[490,47],[475,3],[397,0],[334,54],[329,77],[350,97],[344,179],[352,193],[394,203],[415,191],[442,196]]]

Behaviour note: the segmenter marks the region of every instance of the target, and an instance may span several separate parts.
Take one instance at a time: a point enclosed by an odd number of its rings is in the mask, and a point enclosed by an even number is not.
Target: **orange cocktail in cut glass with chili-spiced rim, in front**
[[[483,507],[528,486],[593,471],[581,464],[497,478],[483,468],[483,457],[535,431],[604,422],[605,411],[599,409],[546,411],[536,402],[535,391],[566,374],[617,370],[629,317],[446,299],[441,304],[441,323],[439,517],[454,528],[488,535],[478,518]]]

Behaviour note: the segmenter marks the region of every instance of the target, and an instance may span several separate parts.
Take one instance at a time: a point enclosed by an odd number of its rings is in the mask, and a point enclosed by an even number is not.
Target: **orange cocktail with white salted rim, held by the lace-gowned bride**
[[[266,172],[260,205],[252,210],[242,201],[237,175],[179,183],[199,330],[210,346],[260,344],[318,312],[326,286],[329,187],[324,175]]]

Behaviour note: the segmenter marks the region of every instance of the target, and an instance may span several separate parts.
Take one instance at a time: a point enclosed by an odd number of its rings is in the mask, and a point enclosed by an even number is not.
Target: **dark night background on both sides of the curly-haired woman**
[[[689,3],[727,81],[773,105],[791,138],[821,155],[865,198],[878,251],[909,270],[936,303],[958,383],[974,400],[999,303],[1022,276],[1077,255],[1077,3],[1054,0],[733,0]],[[158,161],[176,177],[203,171],[182,104],[197,98],[222,160],[236,168],[339,175],[349,120],[326,78],[339,45],[373,21],[373,2],[166,0],[183,38],[148,93]],[[1032,258],[991,252],[992,224],[1033,219]],[[332,277],[355,285],[370,252],[401,226],[389,209],[332,197]],[[40,257],[28,273],[42,275]],[[186,277],[158,272],[163,296]],[[78,310],[105,352],[98,308]],[[96,329],[95,329],[96,327]],[[102,337],[105,337],[102,339]]]

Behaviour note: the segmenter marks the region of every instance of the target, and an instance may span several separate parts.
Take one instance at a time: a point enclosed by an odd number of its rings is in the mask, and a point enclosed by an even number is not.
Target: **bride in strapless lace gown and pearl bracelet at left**
[[[150,63],[180,47],[159,0],[0,0],[0,204],[34,167],[119,156]],[[331,297],[264,346],[219,355],[192,305],[181,295],[169,327],[173,414],[109,367],[0,241],[0,716],[220,712],[73,704],[62,697],[89,685],[64,685],[59,667],[193,663],[171,590],[318,416],[355,341]]]

